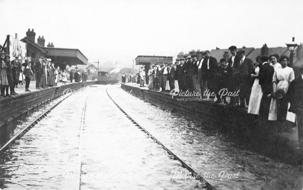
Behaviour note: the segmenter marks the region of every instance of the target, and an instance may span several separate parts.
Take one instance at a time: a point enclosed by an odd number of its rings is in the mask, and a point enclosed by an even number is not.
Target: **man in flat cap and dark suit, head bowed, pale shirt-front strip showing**
[[[205,50],[202,52],[205,56],[202,66],[201,66],[201,78],[202,78],[202,88],[204,94],[205,91],[209,88],[210,93],[215,92],[215,84],[214,79],[216,78],[216,73],[218,70],[218,62],[217,59],[211,57],[209,54],[209,50]]]

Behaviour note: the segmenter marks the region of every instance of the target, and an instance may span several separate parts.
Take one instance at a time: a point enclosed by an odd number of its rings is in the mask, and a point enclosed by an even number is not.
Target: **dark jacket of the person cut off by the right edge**
[[[297,113],[303,109],[303,79],[302,75],[291,81],[288,91],[287,100],[290,103],[288,112]]]

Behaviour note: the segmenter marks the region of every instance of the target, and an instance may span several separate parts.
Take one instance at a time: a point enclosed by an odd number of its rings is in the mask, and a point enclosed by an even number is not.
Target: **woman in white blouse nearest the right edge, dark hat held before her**
[[[281,56],[280,61],[281,68],[275,70],[272,79],[273,95],[271,98],[268,120],[285,122],[287,118],[287,120],[294,122],[295,115],[287,111],[289,105],[286,93],[290,82],[295,79],[295,73],[292,68],[287,66],[289,61],[287,56]]]

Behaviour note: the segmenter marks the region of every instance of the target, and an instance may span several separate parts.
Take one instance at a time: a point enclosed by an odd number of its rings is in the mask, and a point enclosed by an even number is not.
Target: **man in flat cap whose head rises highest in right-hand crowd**
[[[239,72],[239,64],[240,58],[237,55],[237,47],[232,45],[228,48],[231,53],[231,57],[228,59],[227,66],[227,81],[228,81],[228,91],[236,92],[238,90],[238,86],[235,82],[235,75],[238,75]],[[228,105],[238,105],[239,100],[238,97],[231,96],[230,103]]]

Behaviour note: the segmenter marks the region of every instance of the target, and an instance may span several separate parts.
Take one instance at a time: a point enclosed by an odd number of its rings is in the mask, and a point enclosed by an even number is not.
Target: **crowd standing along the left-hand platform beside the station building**
[[[17,95],[15,88],[18,85],[23,85],[25,81],[25,92],[30,92],[29,84],[31,78],[35,74],[36,78],[36,89],[48,88],[57,86],[58,81],[65,84],[68,80],[72,82],[85,82],[88,75],[85,71],[82,73],[80,71],[73,70],[67,73],[65,70],[59,67],[55,68],[54,63],[47,61],[43,57],[39,57],[39,61],[33,64],[25,59],[24,63],[21,63],[18,57],[15,60],[10,61],[10,56],[4,52],[0,53],[0,98],[11,97],[12,95]],[[10,89],[10,93],[8,93]]]

